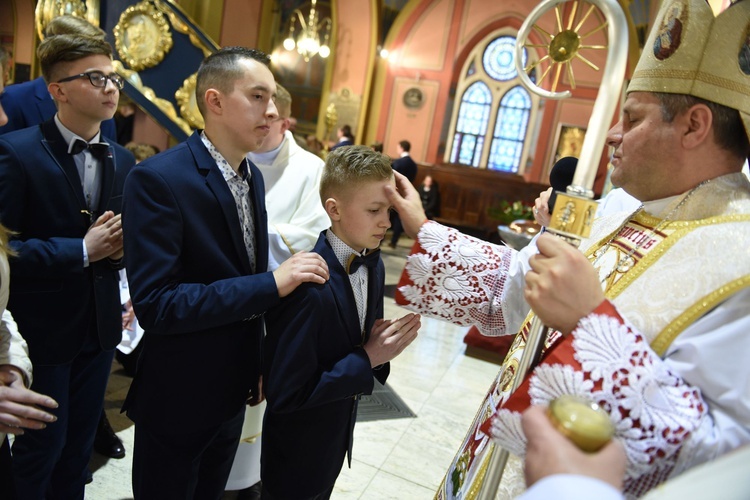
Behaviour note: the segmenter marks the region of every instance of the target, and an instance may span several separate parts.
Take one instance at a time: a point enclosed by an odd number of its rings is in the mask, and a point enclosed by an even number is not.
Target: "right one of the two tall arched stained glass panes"
[[[531,97],[523,87],[513,87],[503,96],[492,134],[488,168],[518,172],[530,112]]]

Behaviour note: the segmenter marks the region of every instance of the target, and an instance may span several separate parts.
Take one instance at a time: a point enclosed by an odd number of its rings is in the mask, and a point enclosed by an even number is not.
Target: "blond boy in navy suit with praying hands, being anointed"
[[[332,151],[320,182],[331,219],[313,249],[330,279],[303,284],[266,314],[264,498],[329,498],[349,453],[357,404],[385,383],[389,361],[417,336],[420,317],[383,320],[377,247],[390,227],[388,157],[365,146]]]

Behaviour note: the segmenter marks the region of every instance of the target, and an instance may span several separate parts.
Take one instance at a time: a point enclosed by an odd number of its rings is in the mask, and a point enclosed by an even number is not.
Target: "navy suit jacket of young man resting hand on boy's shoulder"
[[[125,183],[128,282],[146,333],[123,410],[154,432],[215,427],[257,392],[261,314],[279,295],[265,272],[263,177],[249,166],[256,274],[232,193],[198,132],[140,163]]]

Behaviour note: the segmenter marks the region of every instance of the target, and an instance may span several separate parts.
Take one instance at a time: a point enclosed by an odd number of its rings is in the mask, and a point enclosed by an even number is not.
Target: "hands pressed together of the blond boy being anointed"
[[[419,314],[407,314],[396,320],[376,320],[365,344],[370,366],[374,368],[382,365],[401,354],[417,338],[420,320]]]

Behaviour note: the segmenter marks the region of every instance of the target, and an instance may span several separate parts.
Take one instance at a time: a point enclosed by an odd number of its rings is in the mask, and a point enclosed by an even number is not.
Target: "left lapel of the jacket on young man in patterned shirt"
[[[213,192],[214,196],[216,196],[221,211],[224,213],[224,219],[229,229],[232,244],[242,264],[242,271],[245,274],[251,274],[250,259],[247,256],[245,240],[242,237],[240,217],[237,215],[237,204],[234,202],[232,191],[229,189],[227,181],[224,180],[224,176],[221,175],[221,170],[219,170],[216,161],[208,152],[206,146],[203,145],[200,132],[194,132],[188,138],[187,144],[193,153],[198,170],[206,178],[206,185]]]

